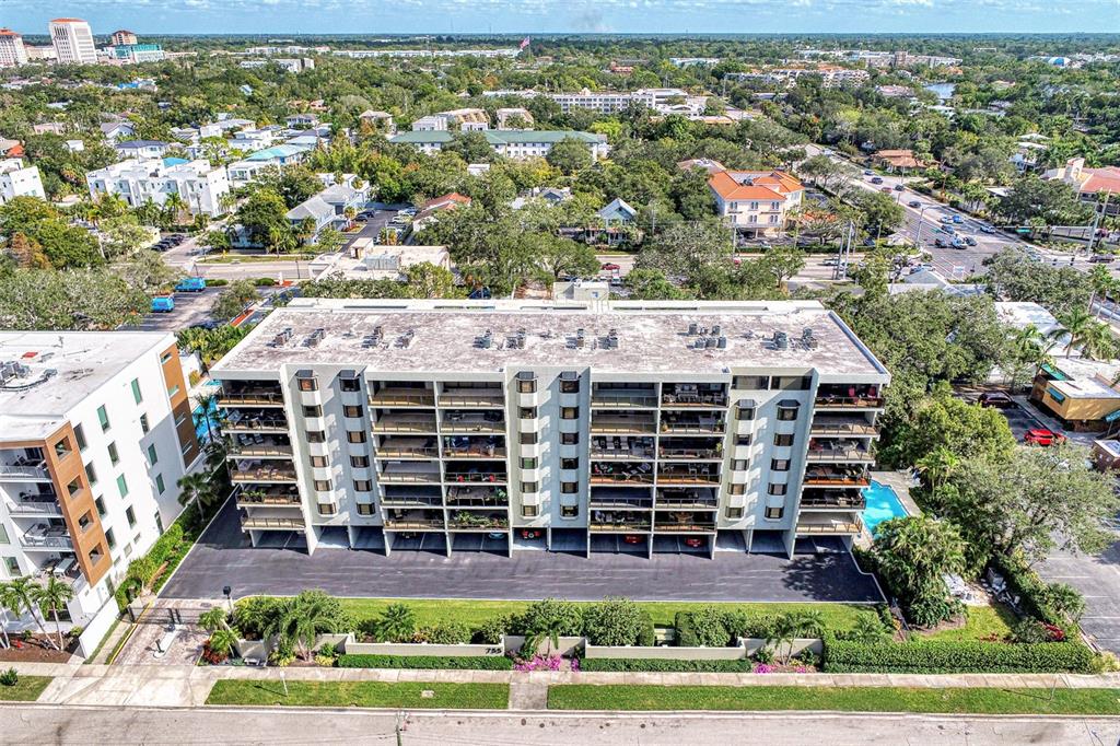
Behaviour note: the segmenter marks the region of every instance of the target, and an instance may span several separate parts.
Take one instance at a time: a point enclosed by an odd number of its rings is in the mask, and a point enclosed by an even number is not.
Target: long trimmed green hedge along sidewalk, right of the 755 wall
[[[824,640],[828,673],[1090,673],[1093,653],[1077,643],[872,643]]]

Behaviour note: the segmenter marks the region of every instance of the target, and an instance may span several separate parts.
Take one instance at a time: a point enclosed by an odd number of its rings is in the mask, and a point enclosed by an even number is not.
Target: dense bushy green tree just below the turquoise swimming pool
[[[880,523],[871,553],[879,577],[911,621],[933,626],[956,610],[943,578],[964,570],[964,549],[956,526],[922,515]]]

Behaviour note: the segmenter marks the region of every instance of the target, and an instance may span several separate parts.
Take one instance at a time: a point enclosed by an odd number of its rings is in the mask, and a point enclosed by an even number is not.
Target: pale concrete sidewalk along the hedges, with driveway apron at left
[[[56,663],[16,663],[27,675],[55,680],[39,698],[53,705],[132,707],[200,707],[218,679],[248,681],[431,681],[512,683],[529,694],[512,702],[536,702],[549,684],[655,684],[724,687],[916,687],[930,689],[1118,689],[1120,673],[1101,675],[967,673],[946,675],[884,673],[607,673],[570,671],[432,671],[416,669],[319,669],[234,666],[108,666]]]

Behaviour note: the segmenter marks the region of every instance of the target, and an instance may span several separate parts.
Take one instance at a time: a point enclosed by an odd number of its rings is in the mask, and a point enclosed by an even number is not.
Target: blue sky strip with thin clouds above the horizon
[[[46,34],[1120,32],[1120,0],[0,0]]]

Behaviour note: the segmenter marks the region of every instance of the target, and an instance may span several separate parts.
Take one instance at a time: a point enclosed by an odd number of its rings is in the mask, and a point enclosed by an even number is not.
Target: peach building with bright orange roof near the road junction
[[[716,212],[744,237],[776,236],[805,188],[785,171],[718,171],[708,179]]]

